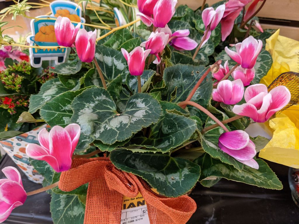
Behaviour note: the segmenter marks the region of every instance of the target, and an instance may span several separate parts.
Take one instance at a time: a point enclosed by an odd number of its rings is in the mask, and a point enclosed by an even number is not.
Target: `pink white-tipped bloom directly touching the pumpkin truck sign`
[[[81,27],[81,23],[78,23],[76,27],[71,23],[68,17],[58,16],[54,29],[57,43],[60,46],[71,47],[76,39],[76,35]]]

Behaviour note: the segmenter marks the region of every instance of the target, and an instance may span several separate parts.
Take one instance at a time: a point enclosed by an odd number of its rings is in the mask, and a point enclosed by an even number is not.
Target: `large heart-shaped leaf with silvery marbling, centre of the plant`
[[[83,91],[71,107],[74,112],[71,122],[79,124],[84,134],[110,145],[156,123],[161,114],[159,102],[146,93],[133,95],[120,114],[112,97],[103,88]]]

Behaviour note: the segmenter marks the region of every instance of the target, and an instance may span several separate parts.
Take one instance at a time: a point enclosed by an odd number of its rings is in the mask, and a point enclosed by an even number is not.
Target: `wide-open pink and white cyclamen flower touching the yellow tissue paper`
[[[235,105],[233,112],[263,123],[289,103],[291,93],[285,86],[277,86],[268,93],[266,85],[255,84],[247,87],[244,99],[246,103]]]

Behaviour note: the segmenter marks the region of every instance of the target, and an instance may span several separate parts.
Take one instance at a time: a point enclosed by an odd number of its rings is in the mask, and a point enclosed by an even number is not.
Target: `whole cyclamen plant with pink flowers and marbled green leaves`
[[[257,139],[245,132],[251,122],[274,116],[291,96],[284,86],[268,93],[259,84],[272,60],[263,49],[270,31],[262,36],[252,28],[257,2],[229,0],[193,11],[175,9],[176,0],[138,0],[145,25],[134,32],[111,30],[98,39],[97,30],[57,18],[58,44],[74,47],[78,58],[51,69],[59,78],[31,96],[29,112],[39,111],[52,129],[39,132],[40,146],[26,148],[50,186],[46,189],[53,187],[54,223],[62,216],[83,223],[78,195],[86,195],[86,185],[67,193],[57,188],[71,158],[108,157],[167,197],[184,195],[197,182],[210,187],[221,178],[282,189],[266,162],[256,158]],[[239,43],[231,42],[234,30],[241,33]],[[10,180],[0,180],[0,203],[5,203],[0,222],[26,199],[22,182],[3,171]],[[20,189],[18,198],[9,196],[16,191],[10,181]],[[80,218],[56,212],[66,194],[81,208]]]

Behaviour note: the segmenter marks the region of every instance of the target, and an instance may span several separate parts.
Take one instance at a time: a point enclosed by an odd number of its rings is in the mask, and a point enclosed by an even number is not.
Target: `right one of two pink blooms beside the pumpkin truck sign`
[[[79,30],[76,37],[76,50],[82,62],[92,62],[95,53],[95,41],[97,30],[87,32],[85,29]]]

